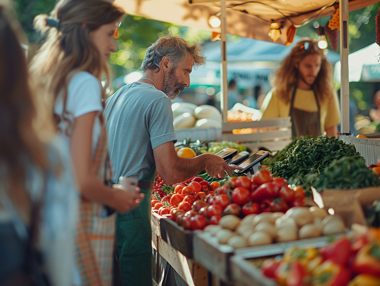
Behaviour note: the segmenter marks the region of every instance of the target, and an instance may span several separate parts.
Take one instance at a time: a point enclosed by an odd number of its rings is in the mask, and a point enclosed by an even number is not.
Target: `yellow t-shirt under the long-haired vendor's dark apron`
[[[289,95],[291,98],[291,94]],[[340,109],[338,103],[338,96],[334,92],[332,96],[326,98],[320,105],[320,120],[321,120],[321,133],[324,134],[327,128],[340,123]],[[297,88],[294,97],[294,107],[304,111],[315,112],[318,111],[317,103],[315,102],[313,90],[304,90]],[[290,101],[285,103],[272,88],[265,96],[263,104],[260,107],[262,118],[276,118],[287,117],[290,112]]]

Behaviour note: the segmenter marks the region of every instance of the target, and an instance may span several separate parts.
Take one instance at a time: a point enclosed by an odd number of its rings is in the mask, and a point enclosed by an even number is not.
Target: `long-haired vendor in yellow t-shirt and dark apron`
[[[299,41],[275,71],[274,83],[261,118],[290,116],[293,137],[336,136],[340,110],[332,66],[317,41]]]

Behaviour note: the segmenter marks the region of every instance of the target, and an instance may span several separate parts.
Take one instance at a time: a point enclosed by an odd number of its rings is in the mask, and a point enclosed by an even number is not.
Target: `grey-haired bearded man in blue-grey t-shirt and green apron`
[[[151,195],[156,174],[172,185],[201,171],[213,177],[231,174],[221,157],[202,154],[179,157],[174,149],[171,100],[190,86],[194,66],[204,63],[201,46],[178,36],[160,37],[146,51],[143,77],[125,85],[106,101],[105,117],[114,182],[119,176],[136,177],[146,194],[136,209],[117,213],[117,257],[123,285],[152,285]]]

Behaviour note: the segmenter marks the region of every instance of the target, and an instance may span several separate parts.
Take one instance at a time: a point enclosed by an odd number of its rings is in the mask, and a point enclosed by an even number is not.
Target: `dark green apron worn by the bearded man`
[[[142,202],[129,212],[116,214],[116,257],[123,286],[152,285],[150,216],[155,177],[156,168],[153,166],[139,183],[140,192],[145,194]],[[146,186],[147,183],[151,183],[150,186]]]

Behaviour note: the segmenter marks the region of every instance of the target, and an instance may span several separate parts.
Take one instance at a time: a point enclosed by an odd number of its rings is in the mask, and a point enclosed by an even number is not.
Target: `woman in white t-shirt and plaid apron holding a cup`
[[[50,16],[35,17],[47,40],[33,57],[33,82],[70,146],[81,194],[74,285],[112,285],[114,210],[136,207],[143,194],[112,187],[103,118],[108,59],[123,11],[101,0],[61,0]],[[101,85],[105,76],[106,84]]]

